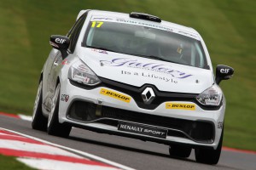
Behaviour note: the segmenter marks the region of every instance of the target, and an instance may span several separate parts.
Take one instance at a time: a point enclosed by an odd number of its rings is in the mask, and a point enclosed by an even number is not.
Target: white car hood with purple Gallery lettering
[[[81,48],[79,58],[96,73],[136,87],[153,84],[160,91],[201,94],[213,84],[212,71],[156,59]]]

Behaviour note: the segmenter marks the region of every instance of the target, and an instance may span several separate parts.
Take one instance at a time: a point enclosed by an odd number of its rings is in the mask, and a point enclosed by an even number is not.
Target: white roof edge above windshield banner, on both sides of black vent
[[[111,11],[103,11],[103,10],[96,10],[96,9],[84,9],[84,10],[81,10],[79,12],[79,15],[77,17],[77,20],[79,19],[79,17],[84,14],[85,12],[90,12],[91,15],[96,15],[96,16],[108,16],[108,17],[114,17],[114,18],[122,18],[122,19],[125,19],[125,20],[141,20],[141,19],[134,19],[134,18],[131,18],[129,14],[125,14],[125,13],[119,13],[119,12],[111,12]],[[148,20],[144,20],[145,22],[151,22],[153,23],[154,25],[159,25],[159,26],[168,26],[172,29],[177,29],[177,30],[180,30],[180,31],[184,31],[183,33],[184,34],[191,34],[192,37],[196,37],[196,39],[201,39],[201,36],[200,34],[195,31],[195,29],[191,28],[191,27],[187,27],[187,26],[182,26],[182,25],[178,25],[178,24],[175,24],[175,23],[172,23],[172,22],[169,22],[169,21],[166,21],[166,20],[161,20],[161,22],[154,22],[154,21],[148,21]],[[191,37],[189,36],[189,37]]]

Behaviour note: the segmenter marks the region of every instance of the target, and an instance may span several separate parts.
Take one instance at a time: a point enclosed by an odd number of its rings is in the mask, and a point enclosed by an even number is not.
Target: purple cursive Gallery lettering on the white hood
[[[171,65],[163,65],[159,63],[148,63],[142,62],[139,59],[129,59],[129,58],[116,58],[112,60],[100,60],[102,66],[126,66],[131,68],[137,68],[147,71],[156,71],[165,73],[171,77],[183,79],[192,77],[191,74],[183,71],[178,71],[174,69]],[[150,76],[149,76],[150,77]]]

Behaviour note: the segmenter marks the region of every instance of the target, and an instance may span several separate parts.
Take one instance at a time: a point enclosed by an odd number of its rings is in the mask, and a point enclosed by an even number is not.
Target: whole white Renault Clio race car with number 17
[[[54,35],[41,72],[32,128],[67,137],[72,127],[170,145],[170,155],[217,164],[225,98],[218,65],[192,28],[159,17],[82,10]]]

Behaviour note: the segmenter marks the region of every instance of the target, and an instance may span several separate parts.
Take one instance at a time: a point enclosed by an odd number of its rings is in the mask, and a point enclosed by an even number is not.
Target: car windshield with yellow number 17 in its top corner
[[[90,21],[83,46],[207,68],[199,40],[147,26]]]

